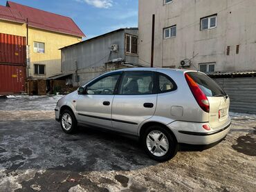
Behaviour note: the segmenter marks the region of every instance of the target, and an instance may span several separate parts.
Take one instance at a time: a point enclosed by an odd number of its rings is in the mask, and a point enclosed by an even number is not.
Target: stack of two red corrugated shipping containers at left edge
[[[26,37],[0,33],[0,95],[25,91]]]

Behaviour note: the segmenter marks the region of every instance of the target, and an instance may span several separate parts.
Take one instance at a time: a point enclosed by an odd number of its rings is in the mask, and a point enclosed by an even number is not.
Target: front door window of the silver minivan
[[[113,95],[120,74],[109,75],[87,86],[88,95]]]

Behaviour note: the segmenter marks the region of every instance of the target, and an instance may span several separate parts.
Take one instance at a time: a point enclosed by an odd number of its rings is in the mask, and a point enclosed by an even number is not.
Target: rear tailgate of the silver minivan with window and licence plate
[[[217,129],[230,121],[230,99],[219,85],[204,73],[190,72],[190,77],[199,85],[210,104],[209,124]]]

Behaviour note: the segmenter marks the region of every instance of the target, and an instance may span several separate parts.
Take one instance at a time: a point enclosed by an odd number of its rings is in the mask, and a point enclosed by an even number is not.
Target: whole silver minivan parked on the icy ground
[[[228,95],[204,73],[127,68],[100,75],[57,102],[65,133],[77,124],[139,137],[149,157],[170,160],[182,144],[212,146],[228,134]]]

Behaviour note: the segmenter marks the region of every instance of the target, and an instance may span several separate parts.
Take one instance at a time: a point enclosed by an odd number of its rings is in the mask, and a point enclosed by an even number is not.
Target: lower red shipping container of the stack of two
[[[26,66],[0,64],[0,95],[25,91]]]

